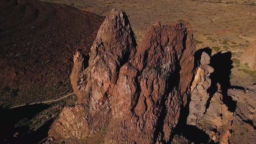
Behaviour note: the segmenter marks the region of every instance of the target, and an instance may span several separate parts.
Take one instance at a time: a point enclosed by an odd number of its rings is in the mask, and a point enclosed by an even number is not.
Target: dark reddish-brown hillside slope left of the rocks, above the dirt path
[[[34,0],[0,1],[0,105],[72,92],[75,49],[85,54],[104,17]]]

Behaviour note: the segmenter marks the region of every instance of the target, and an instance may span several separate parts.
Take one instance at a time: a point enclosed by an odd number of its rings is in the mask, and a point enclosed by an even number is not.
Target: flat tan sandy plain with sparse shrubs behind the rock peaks
[[[106,16],[111,9],[124,10],[129,16],[136,40],[148,26],[187,20],[194,29],[197,49],[209,46],[213,53],[231,51],[233,85],[255,82],[255,71],[240,64],[243,50],[256,39],[255,0],[46,0],[67,4]],[[139,42],[138,42],[139,43]]]

